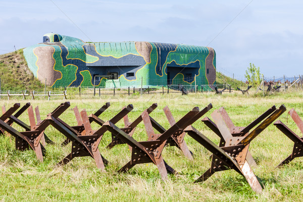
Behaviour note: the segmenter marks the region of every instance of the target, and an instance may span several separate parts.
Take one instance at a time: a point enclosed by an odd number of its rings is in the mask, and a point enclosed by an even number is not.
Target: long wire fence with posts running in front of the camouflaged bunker
[[[261,91],[272,91],[274,89],[279,89],[286,91],[288,88],[303,90],[303,77],[297,75],[294,77],[264,77],[261,84],[249,84],[245,77],[240,77],[239,75],[232,74],[229,75],[228,72],[218,72],[217,80],[220,79],[220,84],[215,85],[200,85],[197,83],[205,82],[203,78],[199,77],[186,77],[182,79],[174,79],[164,82],[161,79],[149,80],[150,85],[143,85],[142,80],[137,82],[129,83],[131,85],[127,87],[99,87],[99,86],[89,86],[89,87],[64,87],[64,88],[54,88],[53,90],[46,90],[46,86],[43,90],[4,90],[0,86],[0,99],[67,99],[67,98],[81,98],[81,97],[100,97],[104,95],[143,95],[143,94],[153,94],[153,93],[208,93],[208,92],[233,92],[235,90],[245,90],[248,86],[252,85],[253,88],[257,88]],[[159,83],[157,83],[159,82]],[[117,82],[118,83],[118,82]],[[169,84],[170,83],[170,84]],[[278,90],[276,90],[278,91]],[[240,92],[240,91],[239,91]]]

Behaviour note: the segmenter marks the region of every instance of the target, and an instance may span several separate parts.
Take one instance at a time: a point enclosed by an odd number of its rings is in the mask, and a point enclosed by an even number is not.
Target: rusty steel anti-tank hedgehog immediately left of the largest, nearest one
[[[126,172],[131,169],[136,164],[143,163],[154,163],[163,180],[168,179],[168,172],[176,173],[176,171],[171,168],[163,159],[162,151],[167,142],[167,139],[170,138],[173,134],[176,138],[178,138],[183,130],[195,122],[199,117],[203,116],[212,108],[210,104],[208,107],[199,112],[197,107],[193,108],[190,112],[188,112],[185,116],[183,116],[178,122],[173,124],[168,130],[165,130],[161,134],[156,134],[154,128],[161,129],[161,126],[156,125],[153,126],[147,110],[145,110],[141,116],[145,126],[145,130],[148,136],[147,141],[137,142],[135,139],[130,137],[123,130],[115,126],[112,122],[106,122],[104,126],[107,129],[116,135],[117,138],[126,142],[129,146],[131,146],[131,160],[123,166],[119,172]],[[155,123],[154,123],[155,125]]]

